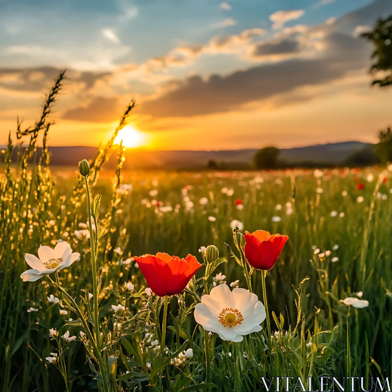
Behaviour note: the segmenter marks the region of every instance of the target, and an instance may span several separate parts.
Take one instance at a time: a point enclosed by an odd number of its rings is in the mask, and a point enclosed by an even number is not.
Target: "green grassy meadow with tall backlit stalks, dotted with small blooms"
[[[18,126],[18,161],[11,138],[2,152],[1,391],[253,392],[276,376],[300,377],[298,391],[309,390],[308,377],[314,390],[316,377],[362,377],[374,391],[392,378],[388,168],[124,172],[113,142],[132,104],[84,175],[52,168],[46,144],[60,86],[34,126]],[[104,170],[111,153],[114,172]],[[256,230],[289,238],[267,273],[245,258],[245,231]],[[50,259],[53,273],[23,281],[25,254],[41,258],[41,245],[59,243],[80,256],[59,270]],[[157,252],[200,263],[180,293],[149,290],[135,257]],[[253,325],[233,342],[196,322],[202,296],[223,287],[268,299],[261,331]]]

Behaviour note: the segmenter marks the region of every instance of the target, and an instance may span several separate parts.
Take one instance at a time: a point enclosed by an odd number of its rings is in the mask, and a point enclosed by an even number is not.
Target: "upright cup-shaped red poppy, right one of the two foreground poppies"
[[[245,231],[245,257],[256,270],[270,270],[276,263],[283,246],[289,239],[280,234],[271,235],[268,231]]]

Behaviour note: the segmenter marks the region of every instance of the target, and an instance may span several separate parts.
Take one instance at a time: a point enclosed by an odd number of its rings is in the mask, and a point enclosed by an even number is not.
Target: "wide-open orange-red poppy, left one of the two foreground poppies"
[[[145,254],[135,257],[148,286],[161,297],[180,294],[202,266],[195,256],[188,255],[185,259],[169,256],[158,252],[155,256]]]

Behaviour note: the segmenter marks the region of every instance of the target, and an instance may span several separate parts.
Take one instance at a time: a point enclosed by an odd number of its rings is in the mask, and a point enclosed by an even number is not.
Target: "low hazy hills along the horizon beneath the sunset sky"
[[[354,151],[365,147],[366,143],[343,142],[315,146],[285,148],[279,159],[285,164],[295,166],[304,163],[318,165],[343,164]],[[82,159],[93,159],[97,147],[49,147],[51,163],[55,166],[76,166]],[[220,151],[149,151],[128,149],[125,153],[124,168],[146,169],[196,169],[206,167],[209,161],[215,161],[219,167],[250,167],[257,149],[220,150]],[[38,150],[41,154],[41,150]],[[14,150],[16,158],[16,150]],[[107,166],[113,167],[116,153],[112,154]]]

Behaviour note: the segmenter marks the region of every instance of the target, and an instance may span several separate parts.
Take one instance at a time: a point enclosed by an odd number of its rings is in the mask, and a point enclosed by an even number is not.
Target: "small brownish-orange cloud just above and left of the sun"
[[[62,118],[91,123],[110,123],[120,115],[118,98],[95,97],[87,106],[66,111]]]

